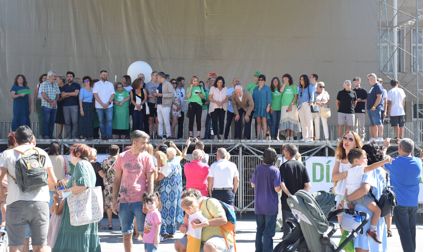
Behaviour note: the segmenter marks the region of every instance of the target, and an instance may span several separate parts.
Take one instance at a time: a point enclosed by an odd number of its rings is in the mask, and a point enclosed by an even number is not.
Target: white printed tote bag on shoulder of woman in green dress
[[[79,161],[81,162],[81,161]],[[98,222],[103,218],[103,194],[102,187],[92,187],[90,171],[84,164],[88,172],[90,187],[82,192],[68,196],[69,218],[72,226],[87,225]],[[72,184],[75,185],[73,179]]]

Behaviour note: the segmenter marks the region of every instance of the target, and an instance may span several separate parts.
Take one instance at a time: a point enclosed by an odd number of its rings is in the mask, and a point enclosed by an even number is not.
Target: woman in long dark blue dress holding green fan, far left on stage
[[[16,75],[13,86],[10,89],[10,97],[13,99],[12,131],[15,131],[22,125],[31,127],[29,121],[29,115],[31,114],[31,95],[16,94],[21,89],[29,89],[27,84],[25,76],[18,74]]]

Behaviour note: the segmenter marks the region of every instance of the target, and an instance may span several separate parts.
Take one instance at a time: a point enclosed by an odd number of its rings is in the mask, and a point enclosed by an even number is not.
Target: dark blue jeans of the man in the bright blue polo
[[[417,206],[396,206],[394,221],[403,251],[416,251]]]

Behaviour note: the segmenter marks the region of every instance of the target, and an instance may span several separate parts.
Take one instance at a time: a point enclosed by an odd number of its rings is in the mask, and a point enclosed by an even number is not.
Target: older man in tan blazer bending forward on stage
[[[232,107],[235,113],[235,140],[241,139],[242,134],[242,116],[245,113],[244,120],[244,140],[251,138],[251,120],[253,119],[254,101],[253,96],[247,90],[242,90],[242,86],[235,87],[231,95]]]

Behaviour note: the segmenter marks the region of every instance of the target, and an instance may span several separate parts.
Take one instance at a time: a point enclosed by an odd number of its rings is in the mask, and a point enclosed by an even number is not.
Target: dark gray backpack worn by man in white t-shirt
[[[38,150],[34,147],[27,149],[25,152],[20,152],[14,149],[21,155],[15,163],[16,179],[11,176],[14,182],[19,186],[22,192],[29,192],[36,190],[49,184],[49,175],[47,169],[44,167],[46,157],[40,155]],[[25,154],[28,152],[28,154]]]

